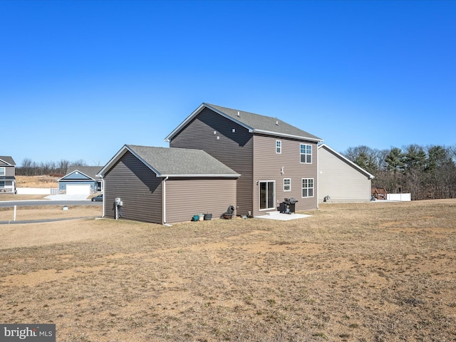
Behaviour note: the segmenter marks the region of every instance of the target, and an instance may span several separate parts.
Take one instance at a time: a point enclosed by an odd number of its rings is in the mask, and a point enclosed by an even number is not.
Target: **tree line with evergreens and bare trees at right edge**
[[[375,176],[373,187],[410,193],[412,200],[456,197],[456,145],[411,144],[389,150],[348,147],[341,155]]]

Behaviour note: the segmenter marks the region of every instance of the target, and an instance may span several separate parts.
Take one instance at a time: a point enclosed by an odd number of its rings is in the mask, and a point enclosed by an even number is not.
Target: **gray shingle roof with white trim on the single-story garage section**
[[[239,177],[240,175],[203,150],[125,145],[100,173],[105,173],[130,151],[157,177]]]

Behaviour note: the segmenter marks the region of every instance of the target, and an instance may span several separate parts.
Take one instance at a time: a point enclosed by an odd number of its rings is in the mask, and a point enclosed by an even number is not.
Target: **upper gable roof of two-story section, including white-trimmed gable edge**
[[[215,113],[222,115],[224,118],[234,121],[235,123],[242,125],[244,128],[247,128],[250,133],[261,133],[266,135],[276,135],[286,138],[297,138],[301,140],[311,140],[321,142],[321,138],[318,138],[316,135],[307,133],[304,130],[294,127],[289,123],[286,123],[278,118],[272,118],[270,116],[264,116],[249,112],[244,112],[243,110],[236,110],[232,108],[225,108],[219,105],[211,105],[209,103],[202,103],[199,107],[188,116],[175,130],[170,133],[165,138],[165,141],[170,142],[172,138],[177,135],[187,123],[189,123],[193,118],[195,118],[204,108],[209,108]]]

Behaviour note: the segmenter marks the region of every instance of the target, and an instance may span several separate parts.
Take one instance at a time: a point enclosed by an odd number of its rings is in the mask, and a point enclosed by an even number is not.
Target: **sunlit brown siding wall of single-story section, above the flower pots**
[[[236,179],[169,178],[165,185],[166,222],[187,222],[195,214],[218,219],[236,207]]]

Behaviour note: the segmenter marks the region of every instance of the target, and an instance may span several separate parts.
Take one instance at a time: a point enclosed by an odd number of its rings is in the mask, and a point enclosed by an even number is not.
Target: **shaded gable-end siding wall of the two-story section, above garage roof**
[[[170,147],[204,150],[239,173],[234,207],[238,215],[252,213],[253,135],[246,128],[204,108],[172,139]]]

